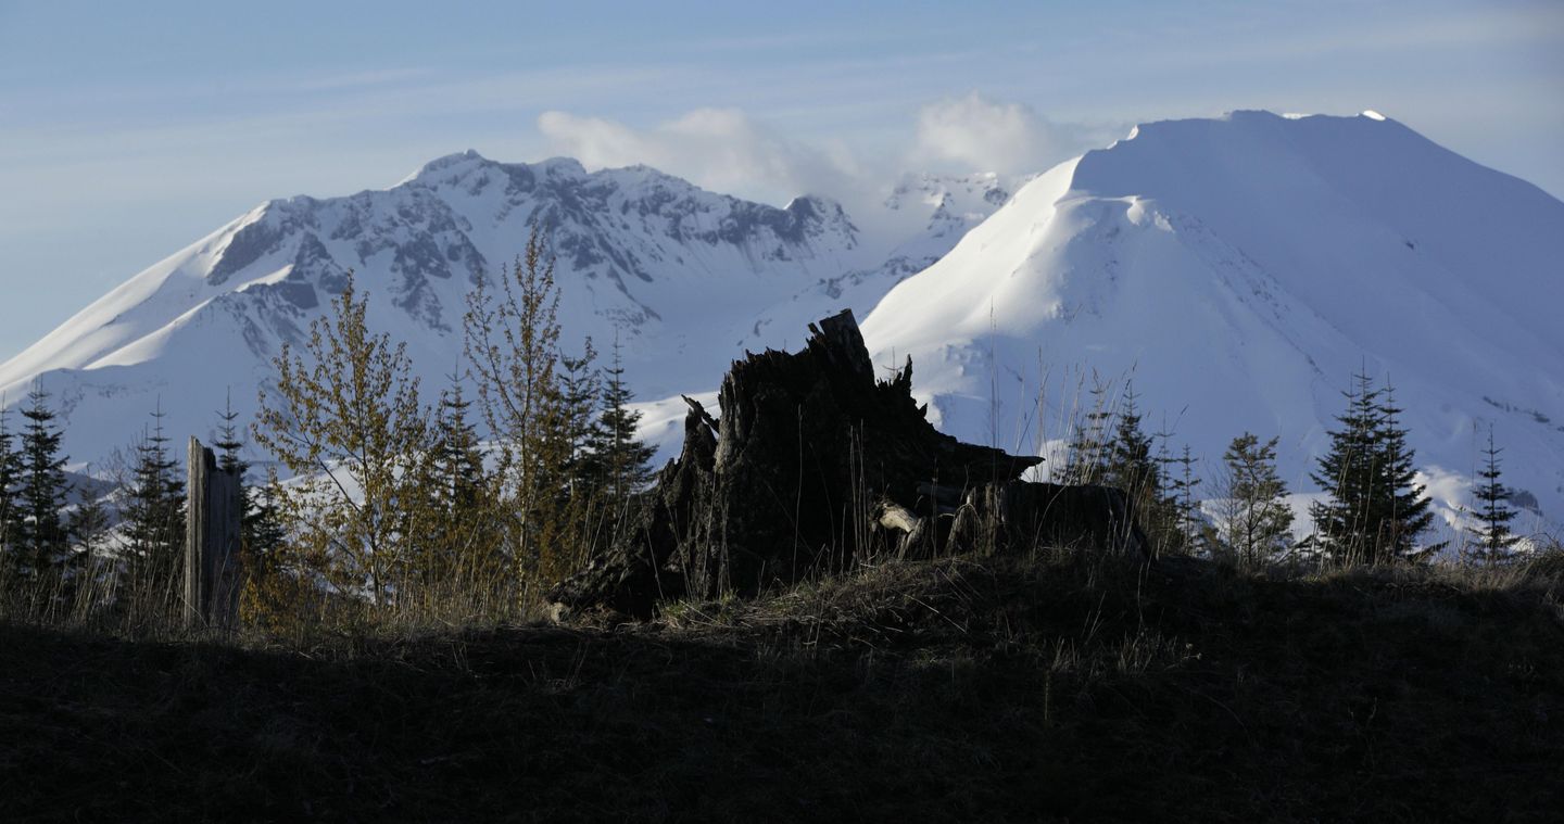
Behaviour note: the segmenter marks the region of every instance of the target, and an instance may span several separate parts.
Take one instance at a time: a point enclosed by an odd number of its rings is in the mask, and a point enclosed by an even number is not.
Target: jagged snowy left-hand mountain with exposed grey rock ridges
[[[408,344],[433,396],[458,367],[466,294],[536,224],[557,255],[566,347],[590,335],[607,352],[618,336],[633,391],[677,399],[719,380],[743,347],[799,339],[802,322],[843,300],[866,313],[998,208],[1001,194],[957,205],[973,186],[998,191],[981,177],[923,178],[885,210],[893,220],[863,231],[820,197],[774,208],[647,167],[450,155],[386,191],[255,208],[0,366],[0,392],[16,407],[41,377],[77,464],[133,442],[158,407],[177,439],[206,435],[230,389],[249,419],[272,358],[305,339],[353,270],[371,325]],[[768,322],[777,314],[801,321]]]

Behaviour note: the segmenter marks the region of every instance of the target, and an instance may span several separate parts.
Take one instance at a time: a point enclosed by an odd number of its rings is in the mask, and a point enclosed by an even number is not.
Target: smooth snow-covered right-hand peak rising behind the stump
[[[1132,380],[1207,469],[1243,430],[1279,435],[1295,489],[1367,367],[1394,382],[1436,499],[1465,500],[1492,422],[1508,482],[1558,522],[1561,316],[1559,200],[1375,113],[1245,111],[1048,170],[863,331],[877,363],[912,355],[954,435],[1062,438],[1095,371]]]

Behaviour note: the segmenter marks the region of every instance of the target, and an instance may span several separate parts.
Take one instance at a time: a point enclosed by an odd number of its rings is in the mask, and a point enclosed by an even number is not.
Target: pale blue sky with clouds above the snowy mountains
[[[1236,108],[1379,109],[1564,195],[1564,3],[0,0],[0,360],[266,199],[469,147],[851,202]]]

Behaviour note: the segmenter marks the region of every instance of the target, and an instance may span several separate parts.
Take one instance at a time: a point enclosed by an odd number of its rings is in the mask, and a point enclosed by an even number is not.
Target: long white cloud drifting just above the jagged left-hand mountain
[[[652,128],[546,111],[538,130],[590,169],[644,163],[712,191],[785,203],[840,194],[859,177],[851,153],[787,139],[740,109],[702,108]]]

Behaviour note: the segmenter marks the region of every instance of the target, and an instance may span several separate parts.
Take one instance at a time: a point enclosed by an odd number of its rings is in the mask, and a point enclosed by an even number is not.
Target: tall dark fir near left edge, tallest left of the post
[[[34,383],[22,410],[27,424],[17,455],[17,521],[14,547],[25,575],[36,577],[64,560],[69,550],[64,511],[70,486],[66,483],[66,457],[59,453],[63,433],[55,427],[48,392]]]

